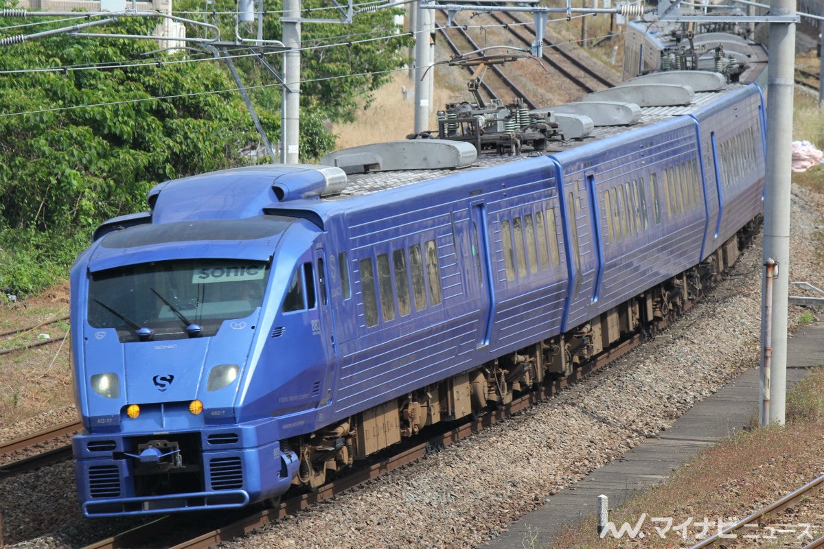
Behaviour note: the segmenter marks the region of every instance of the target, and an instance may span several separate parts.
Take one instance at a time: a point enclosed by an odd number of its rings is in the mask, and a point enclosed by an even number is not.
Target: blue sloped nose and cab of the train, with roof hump
[[[328,370],[305,290],[319,229],[263,209],[340,177],[265,166],[178,179],[152,190],[151,212],[96,230],[71,278],[84,514],[240,507],[288,489],[298,459],[273,410],[316,407],[309,380]]]

